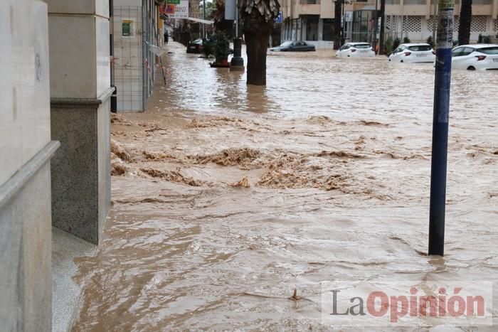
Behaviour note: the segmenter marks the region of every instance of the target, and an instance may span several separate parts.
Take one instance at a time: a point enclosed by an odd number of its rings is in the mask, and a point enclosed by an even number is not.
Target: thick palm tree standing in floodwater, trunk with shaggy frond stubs
[[[280,4],[277,0],[239,0],[238,6],[248,53],[247,84],[266,85],[267,46]]]

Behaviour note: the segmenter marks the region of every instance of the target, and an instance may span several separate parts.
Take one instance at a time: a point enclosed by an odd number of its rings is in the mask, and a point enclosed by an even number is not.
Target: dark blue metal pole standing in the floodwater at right
[[[440,256],[443,256],[445,252],[446,165],[454,9],[454,0],[439,1],[434,85],[433,153],[430,165],[429,255]]]

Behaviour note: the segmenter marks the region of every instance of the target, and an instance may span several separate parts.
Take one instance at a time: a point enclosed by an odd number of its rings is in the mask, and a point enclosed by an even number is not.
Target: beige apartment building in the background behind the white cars
[[[341,0],[339,0],[341,1]],[[344,36],[346,41],[371,41],[375,29],[374,0],[344,1]],[[380,8],[380,0],[378,8]],[[332,48],[334,36],[334,0],[282,0],[282,41],[302,40],[317,48]],[[411,41],[425,41],[433,36],[433,0],[386,0],[386,35],[408,36]],[[460,0],[455,0],[454,39],[458,36]],[[479,35],[498,35],[498,0],[474,0],[470,40]]]

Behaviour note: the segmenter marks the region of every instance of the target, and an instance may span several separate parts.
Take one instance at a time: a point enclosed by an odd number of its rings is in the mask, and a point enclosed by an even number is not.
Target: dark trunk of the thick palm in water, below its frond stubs
[[[259,19],[247,19],[243,33],[248,54],[247,84],[266,85],[266,53],[273,24]]]

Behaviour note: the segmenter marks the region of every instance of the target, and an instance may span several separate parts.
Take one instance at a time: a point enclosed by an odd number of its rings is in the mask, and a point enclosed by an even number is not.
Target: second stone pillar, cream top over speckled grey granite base
[[[109,0],[48,4],[53,225],[98,244],[110,208]]]

